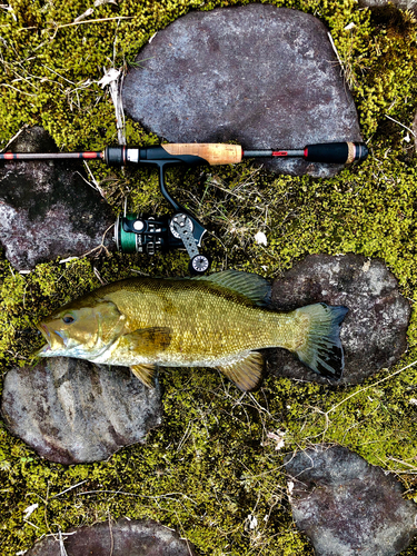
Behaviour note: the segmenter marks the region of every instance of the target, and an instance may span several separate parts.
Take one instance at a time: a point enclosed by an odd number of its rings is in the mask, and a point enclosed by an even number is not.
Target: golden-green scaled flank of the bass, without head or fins
[[[271,312],[225,288],[207,288],[203,281],[127,281],[102,298],[118,306],[131,331],[172,330],[159,361],[167,366],[208,366],[237,353],[277,345],[291,349],[305,327],[300,319]]]

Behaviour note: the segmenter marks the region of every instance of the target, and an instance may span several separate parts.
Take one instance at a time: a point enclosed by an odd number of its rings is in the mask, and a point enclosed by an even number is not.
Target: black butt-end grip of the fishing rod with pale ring
[[[304,149],[304,158],[311,162],[334,162],[350,165],[356,160],[365,160],[368,149],[361,142],[321,142],[307,145]]]

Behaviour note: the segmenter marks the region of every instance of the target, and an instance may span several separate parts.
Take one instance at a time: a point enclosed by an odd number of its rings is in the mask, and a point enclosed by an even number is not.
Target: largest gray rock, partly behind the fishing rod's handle
[[[361,140],[327,29],[307,13],[260,3],[191,12],[159,31],[137,62],[125,79],[125,110],[170,142],[301,149]],[[258,160],[297,176],[341,168]]]

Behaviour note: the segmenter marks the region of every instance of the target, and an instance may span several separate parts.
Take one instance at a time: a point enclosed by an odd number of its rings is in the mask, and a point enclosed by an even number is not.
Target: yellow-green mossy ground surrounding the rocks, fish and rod
[[[129,67],[159,29],[191,9],[246,2],[120,0],[72,24],[87,0],[11,0],[0,7],[0,145],[23,125],[41,125],[62,150],[117,141],[113,106],[97,81],[103,68]],[[417,26],[393,7],[370,11],[353,0],[282,0],[319,17],[331,31],[371,156],[334,179],[277,177],[250,162],[170,175],[170,188],[212,231],[214,269],[275,278],[311,252],[380,257],[410,304],[417,301],[415,207]],[[89,21],[95,20],[95,21]],[[389,118],[388,118],[389,117]],[[130,143],[158,138],[127,123]],[[152,172],[91,169],[115,211],[165,207]],[[264,231],[268,246],[254,235]],[[180,276],[187,257],[101,255],[52,261],[20,275],[0,258],[1,374],[27,365],[39,346],[33,324],[103,280]],[[95,272],[96,269],[96,272]],[[163,425],[145,446],[108,461],[64,467],[39,458],[0,428],[0,553],[22,554],[42,535],[99,520],[155,518],[187,536],[200,555],[311,555],[291,518],[282,457],[311,443],[340,443],[397,475],[417,502],[417,329],[400,363],[357,387],[266,378],[241,395],[212,370],[167,369]],[[408,366],[408,367],[407,367]],[[404,369],[404,370],[401,370]],[[268,433],[285,431],[277,450]],[[24,519],[24,509],[39,507]],[[250,516],[257,526],[250,528]],[[411,555],[417,543],[405,552]]]

